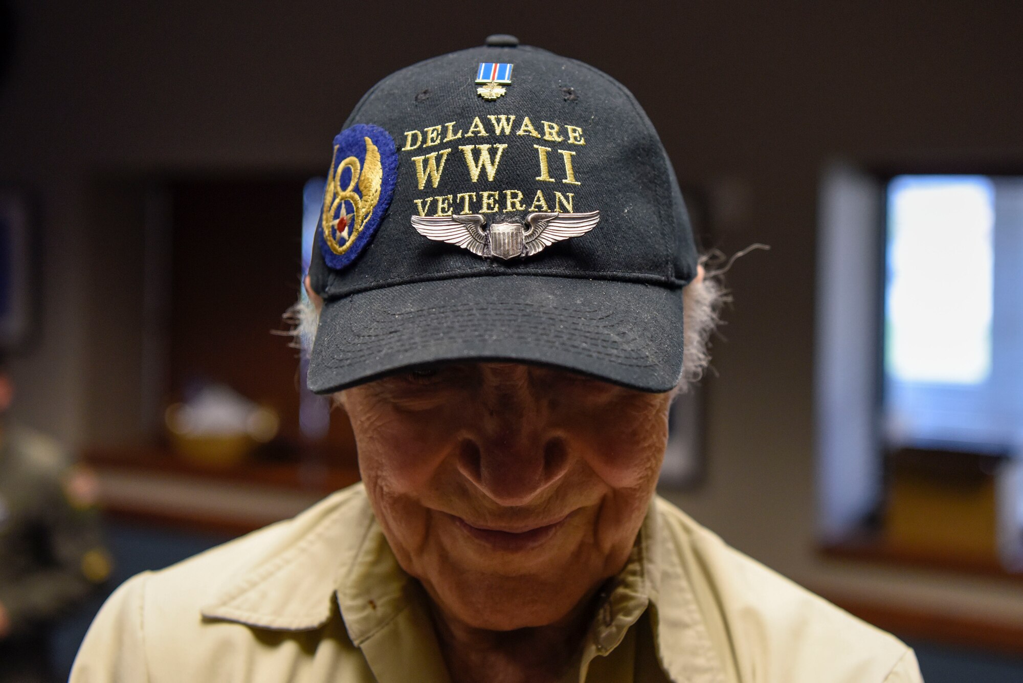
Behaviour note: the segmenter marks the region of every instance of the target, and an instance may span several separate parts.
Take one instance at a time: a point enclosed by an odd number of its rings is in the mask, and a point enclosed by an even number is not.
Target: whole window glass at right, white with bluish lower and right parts
[[[1023,179],[897,176],[885,240],[890,449],[1023,439]]]

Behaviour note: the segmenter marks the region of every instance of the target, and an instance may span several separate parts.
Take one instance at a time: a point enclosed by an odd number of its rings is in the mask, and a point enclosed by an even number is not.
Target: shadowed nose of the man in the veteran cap
[[[542,388],[532,385],[524,366],[508,367],[486,377],[480,419],[459,444],[458,466],[494,502],[513,506],[565,474],[569,445],[550,426]]]

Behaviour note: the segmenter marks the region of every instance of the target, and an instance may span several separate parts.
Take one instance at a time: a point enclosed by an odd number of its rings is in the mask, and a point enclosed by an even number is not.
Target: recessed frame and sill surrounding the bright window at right
[[[1005,553],[1002,561],[984,562],[954,553],[916,552],[883,540],[891,470],[898,459],[898,454],[887,452],[882,431],[888,187],[892,179],[904,175],[982,175],[997,183],[1006,177],[1023,178],[1023,167],[848,160],[835,160],[825,167],[818,194],[814,340],[817,548],[829,557],[1023,579],[1019,573],[1023,561],[1016,562]],[[855,293],[850,297],[850,291]],[[851,342],[843,338],[848,334]],[[1005,465],[1000,480],[1023,477],[1017,471],[1023,458],[992,451]],[[991,452],[964,450],[949,457],[967,468],[976,462],[988,463],[985,467],[990,468],[990,456]],[[1006,484],[999,481],[997,486],[1005,495]],[[1019,497],[1023,505],[1023,493]]]

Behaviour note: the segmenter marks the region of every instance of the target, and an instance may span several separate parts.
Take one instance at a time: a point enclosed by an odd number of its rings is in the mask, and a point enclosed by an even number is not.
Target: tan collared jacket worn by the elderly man
[[[72,683],[448,683],[419,584],[356,485],[126,582]],[[655,499],[565,681],[910,683],[913,650]]]

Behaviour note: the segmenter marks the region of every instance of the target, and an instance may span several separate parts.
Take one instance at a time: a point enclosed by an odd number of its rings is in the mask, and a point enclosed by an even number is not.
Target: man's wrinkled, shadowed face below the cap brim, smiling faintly
[[[670,394],[471,363],[342,402],[401,566],[446,617],[510,630],[564,619],[622,567],[657,483]]]

